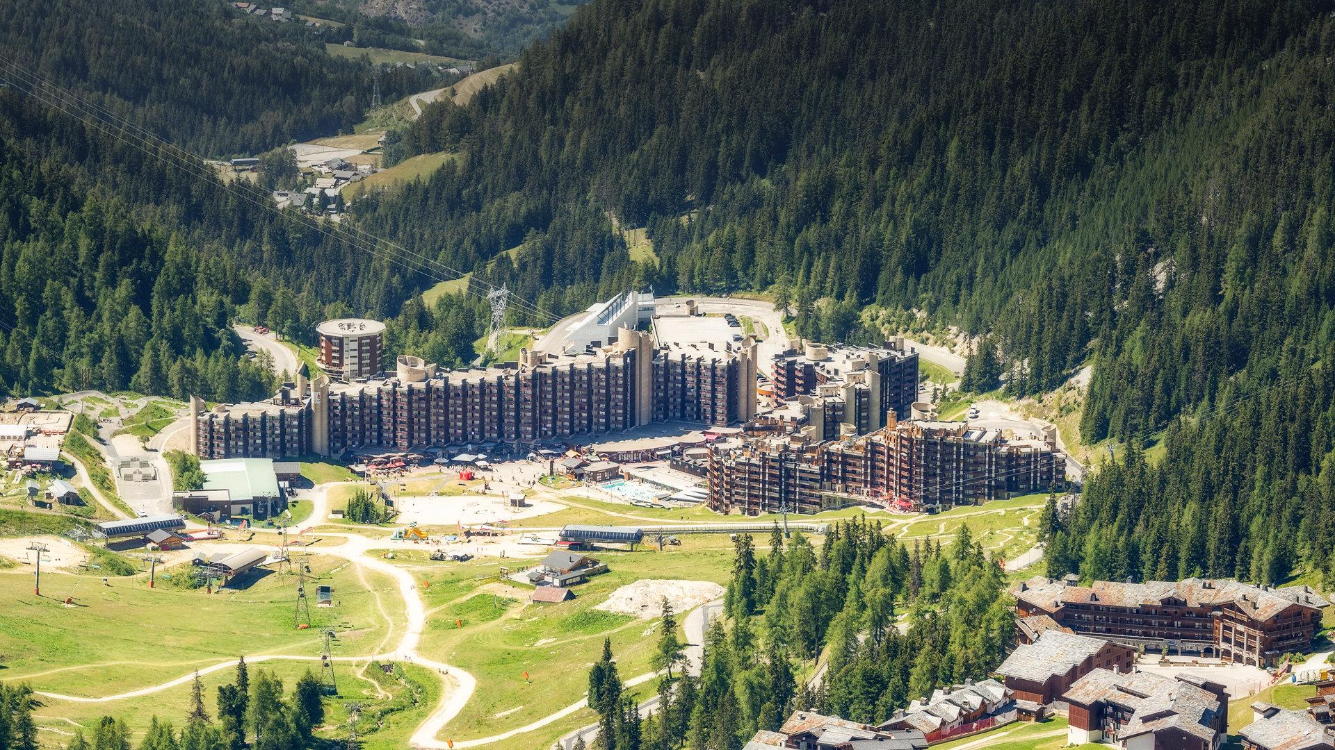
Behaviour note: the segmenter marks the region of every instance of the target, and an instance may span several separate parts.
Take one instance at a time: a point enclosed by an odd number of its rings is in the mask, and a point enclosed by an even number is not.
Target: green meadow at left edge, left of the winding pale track
[[[375,653],[388,627],[376,597],[391,613],[402,611],[395,583],[367,573],[368,590],[346,560],[316,555],[310,563],[318,583],[331,585],[339,602],[312,606],[311,630],[294,625],[296,578],[287,574],[251,575],[242,589],[206,594],[166,581],[148,589],[143,574],[112,578],[103,586],[100,571],[51,573],[43,575],[39,598],[27,566],[5,571],[0,574],[0,598],[11,603],[0,613],[5,679],[52,693],[107,695],[158,685],[239,654],[318,655],[322,627],[338,631],[340,653]],[[315,583],[307,579],[307,586],[314,590]],[[76,606],[65,607],[65,597],[73,597]],[[136,703],[154,706],[156,697],[107,707],[132,710]],[[61,702],[61,710],[68,706]]]

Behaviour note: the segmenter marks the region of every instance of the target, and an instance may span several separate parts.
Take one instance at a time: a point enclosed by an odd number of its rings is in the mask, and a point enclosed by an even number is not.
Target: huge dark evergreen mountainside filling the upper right
[[[1331,9],[599,0],[356,208],[562,312],[770,290],[817,338],[992,334],[1015,394],[1092,363],[1085,438],[1167,454],[1091,487],[1053,570],[1278,581],[1331,566]]]

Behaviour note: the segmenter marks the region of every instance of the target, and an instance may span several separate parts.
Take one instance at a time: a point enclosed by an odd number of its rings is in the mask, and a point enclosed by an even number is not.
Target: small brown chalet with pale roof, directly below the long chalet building
[[[1016,646],[996,674],[1016,701],[1045,706],[1096,669],[1129,673],[1135,662],[1136,650],[1129,646],[1048,630],[1033,643]]]

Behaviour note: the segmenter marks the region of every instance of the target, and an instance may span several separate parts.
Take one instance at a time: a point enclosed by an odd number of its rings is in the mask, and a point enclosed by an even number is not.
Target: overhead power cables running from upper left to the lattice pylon
[[[339,223],[335,231],[330,231],[330,227],[324,222],[316,220],[315,218],[307,216],[304,214],[300,212],[283,214],[276,206],[274,206],[272,200],[267,194],[263,195],[263,198],[259,198],[247,190],[238,190],[232,184],[216,180],[216,175],[214,175],[212,169],[207,164],[204,164],[206,160],[202,156],[191,153],[184,148],[175,145],[154,135],[152,132],[148,132],[143,127],[129,121],[128,119],[120,115],[116,115],[115,112],[107,111],[105,108],[100,107],[96,103],[91,103],[81,99],[77,93],[65,89],[57,84],[53,84],[49,80],[43,79],[37,73],[33,73],[32,71],[24,68],[23,65],[9,59],[0,57],[0,65],[3,65],[7,69],[7,71],[0,71],[0,77],[3,77],[7,83],[13,84],[16,89],[21,91],[29,97],[45,104],[52,109],[57,109],[76,120],[80,120],[84,124],[96,128],[97,132],[113,137],[127,145],[131,145],[148,156],[152,156],[168,165],[176,167],[178,169],[187,172],[191,176],[199,179],[212,179],[214,184],[218,188],[227,191],[228,194],[236,198],[255,203],[256,206],[274,211],[279,215],[295,218],[300,222],[304,222],[315,231],[331,239],[344,242],[356,250],[362,250],[364,252],[382,258],[386,262],[395,263],[396,266],[400,266],[414,274],[421,274],[423,276],[427,276],[431,280],[445,282],[445,280],[455,280],[463,276],[470,276],[474,282],[477,282],[486,290],[497,288],[494,284],[481,278],[470,275],[458,268],[453,268],[437,259],[411,251],[398,243],[386,240],[383,238],[378,238],[367,232],[366,230],[362,230],[360,227]],[[117,125],[119,131],[109,129],[111,127],[117,127]],[[376,244],[383,246],[383,250],[376,250],[375,247]],[[449,278],[442,279],[439,276],[442,272],[445,275],[449,275]],[[486,299],[485,294],[475,291],[469,286],[465,287],[465,292],[471,294],[479,299]],[[534,318],[546,319],[551,322],[559,319],[558,315],[555,315],[549,310],[542,308],[541,306],[538,306],[531,300],[514,298],[513,303],[515,303],[517,310],[519,310],[521,312],[526,312]]]

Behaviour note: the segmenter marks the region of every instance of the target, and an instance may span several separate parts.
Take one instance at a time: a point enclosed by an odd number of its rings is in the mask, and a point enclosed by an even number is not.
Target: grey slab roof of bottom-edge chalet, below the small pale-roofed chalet
[[[1216,735],[1216,717],[1224,710],[1214,693],[1187,681],[1104,669],[1077,679],[1063,699],[1081,706],[1101,701],[1131,710],[1131,719],[1119,733],[1121,739],[1175,727],[1210,745]]]

